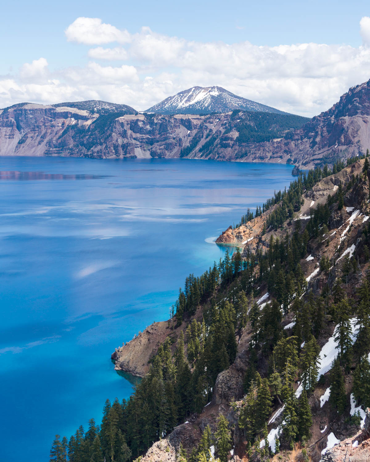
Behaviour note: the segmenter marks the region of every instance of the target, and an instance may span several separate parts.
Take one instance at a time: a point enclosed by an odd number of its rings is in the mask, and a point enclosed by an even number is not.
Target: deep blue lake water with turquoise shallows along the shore
[[[49,460],[105,399],[116,346],[169,307],[211,243],[292,179],[279,164],[0,157],[2,457]],[[209,241],[209,242],[207,242]]]

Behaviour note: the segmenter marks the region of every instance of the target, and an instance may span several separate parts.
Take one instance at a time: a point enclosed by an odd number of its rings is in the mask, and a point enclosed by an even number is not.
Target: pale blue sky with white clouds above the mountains
[[[192,85],[221,85],[312,116],[370,78],[368,16],[362,0],[3,3],[0,107],[96,97],[146,109]],[[86,43],[81,17],[127,40],[99,32]]]

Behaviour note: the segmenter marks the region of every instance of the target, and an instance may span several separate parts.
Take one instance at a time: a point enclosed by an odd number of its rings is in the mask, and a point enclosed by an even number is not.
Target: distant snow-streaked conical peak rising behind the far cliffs
[[[211,114],[230,112],[234,109],[286,114],[270,106],[234,95],[234,93],[219,86],[195,86],[189,90],[180,91],[177,95],[164,99],[145,112],[159,114]]]

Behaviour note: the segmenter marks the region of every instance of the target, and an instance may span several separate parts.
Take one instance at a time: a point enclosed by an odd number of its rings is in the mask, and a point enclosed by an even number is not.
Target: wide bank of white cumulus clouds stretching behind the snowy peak
[[[25,64],[18,74],[0,78],[0,107],[103,99],[144,110],[193,85],[220,85],[259,103],[314,116],[370,78],[370,18],[361,19],[360,34],[363,45],[357,48],[320,43],[268,47],[189,41],[148,27],[129,34],[98,18],[77,18],[66,30],[68,40],[112,46],[88,50],[91,61],[83,67],[51,71],[45,58]]]

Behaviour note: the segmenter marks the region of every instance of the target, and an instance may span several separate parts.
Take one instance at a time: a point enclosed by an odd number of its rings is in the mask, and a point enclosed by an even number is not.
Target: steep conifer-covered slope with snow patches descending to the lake
[[[113,353],[117,369],[148,370],[134,395],[56,438],[51,460],[127,462],[155,441],[145,461],[367,460],[369,158],[331,173],[242,218],[235,239],[264,223],[242,253],[190,275],[172,318]]]

